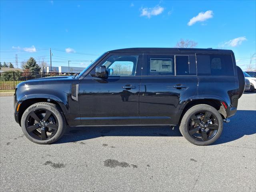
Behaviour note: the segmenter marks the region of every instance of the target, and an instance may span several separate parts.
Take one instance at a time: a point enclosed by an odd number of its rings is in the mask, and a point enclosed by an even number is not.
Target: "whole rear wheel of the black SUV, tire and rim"
[[[180,132],[195,145],[209,145],[220,137],[222,121],[222,116],[214,107],[206,104],[196,105],[184,114]]]

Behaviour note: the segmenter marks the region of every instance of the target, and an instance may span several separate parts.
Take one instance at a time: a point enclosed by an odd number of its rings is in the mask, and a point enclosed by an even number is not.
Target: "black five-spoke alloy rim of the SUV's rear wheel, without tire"
[[[198,141],[208,141],[216,136],[219,124],[216,116],[210,111],[199,111],[188,121],[188,133]]]

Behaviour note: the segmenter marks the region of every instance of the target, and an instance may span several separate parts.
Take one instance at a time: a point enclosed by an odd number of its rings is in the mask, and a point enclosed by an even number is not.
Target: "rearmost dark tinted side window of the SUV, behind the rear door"
[[[234,76],[232,56],[227,54],[196,54],[197,74]]]

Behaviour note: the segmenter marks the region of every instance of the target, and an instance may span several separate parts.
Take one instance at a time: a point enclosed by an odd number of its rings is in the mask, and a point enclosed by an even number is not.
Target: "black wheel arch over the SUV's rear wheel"
[[[218,99],[194,99],[194,100],[190,100],[189,102],[187,102],[186,104],[184,104],[183,109],[181,110],[181,112],[178,114],[179,117],[177,118],[178,124],[180,124],[184,114],[186,113],[186,111],[188,109],[190,109],[192,106],[198,105],[198,104],[206,104],[206,105],[210,105],[212,107],[214,107],[222,116],[222,119],[225,119],[227,117],[227,112],[225,107],[222,104],[222,100],[218,100]]]

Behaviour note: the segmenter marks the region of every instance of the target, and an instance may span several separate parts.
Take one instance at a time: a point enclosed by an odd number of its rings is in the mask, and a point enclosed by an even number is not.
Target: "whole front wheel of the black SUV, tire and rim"
[[[44,119],[46,119],[45,122],[43,122]],[[42,122],[40,123],[39,120]],[[38,128],[34,128],[35,126]],[[30,141],[37,144],[51,144],[64,134],[66,120],[56,104],[38,102],[24,111],[21,118],[21,127],[24,135]],[[30,131],[32,129],[33,131]]]

